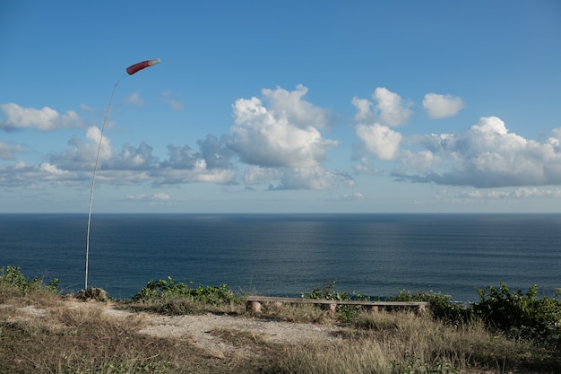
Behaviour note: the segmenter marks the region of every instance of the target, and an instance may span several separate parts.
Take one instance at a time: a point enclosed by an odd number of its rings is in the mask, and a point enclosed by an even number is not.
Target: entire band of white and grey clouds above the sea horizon
[[[209,134],[196,142],[196,149],[168,144],[168,154],[161,160],[150,144],[117,147],[110,136],[104,136],[98,180],[125,186],[215,183],[263,190],[322,190],[357,187],[357,172],[383,166],[388,175],[403,182],[475,188],[561,186],[561,127],[539,142],[510,132],[499,117],[480,117],[456,134],[404,135],[401,128],[414,114],[414,103],[384,87],[376,88],[368,99],[350,100],[356,109],[354,139],[363,146],[363,152],[354,156],[358,165],[353,168],[349,155],[349,170],[354,171],[329,170],[329,153],[348,139],[325,136],[339,118],[332,109],[306,100],[307,91],[300,84],[293,91],[263,89],[261,97],[238,99],[232,104],[234,123],[227,134]],[[138,93],[128,100],[133,105],[143,103]],[[176,103],[174,108],[179,107]],[[451,94],[431,92],[422,99],[422,109],[431,120],[453,117],[464,107],[462,98]],[[4,114],[0,129],[5,132],[86,127],[84,136],[69,139],[65,151],[46,155],[38,164],[17,161],[28,152],[23,144],[0,142],[4,161],[0,186],[39,189],[41,183],[82,186],[91,180],[100,136],[97,126],[86,126],[72,110],[60,114],[47,107],[7,103],[0,105],[0,113]]]

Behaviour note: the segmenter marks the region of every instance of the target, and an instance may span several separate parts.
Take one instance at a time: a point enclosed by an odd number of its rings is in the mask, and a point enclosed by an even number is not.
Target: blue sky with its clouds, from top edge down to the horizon
[[[561,3],[0,3],[0,212],[559,212]],[[125,68],[161,58],[134,75]]]

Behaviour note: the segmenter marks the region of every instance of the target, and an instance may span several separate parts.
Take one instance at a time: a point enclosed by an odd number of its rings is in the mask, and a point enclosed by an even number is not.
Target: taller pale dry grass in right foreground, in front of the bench
[[[274,373],[557,372],[531,344],[489,335],[480,323],[445,326],[411,313],[362,314],[337,344],[287,346]],[[280,362],[279,362],[280,360]]]

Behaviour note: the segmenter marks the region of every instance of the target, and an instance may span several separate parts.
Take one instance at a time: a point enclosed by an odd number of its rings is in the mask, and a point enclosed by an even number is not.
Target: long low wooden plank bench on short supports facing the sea
[[[377,313],[382,309],[415,309],[418,314],[423,314],[428,308],[427,301],[361,301],[361,300],[320,300],[320,299],[304,299],[304,298],[276,298],[269,296],[247,296],[246,308],[253,313],[261,313],[261,304],[263,302],[273,303],[290,303],[290,304],[320,304],[324,310],[335,313],[337,305],[358,305],[365,309]]]

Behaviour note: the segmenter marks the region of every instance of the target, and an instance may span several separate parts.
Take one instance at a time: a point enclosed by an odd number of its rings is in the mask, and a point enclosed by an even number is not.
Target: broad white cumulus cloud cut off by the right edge
[[[554,130],[547,142],[539,143],[511,133],[498,117],[481,117],[463,133],[427,135],[424,145],[443,161],[440,169],[405,178],[472,187],[559,185],[557,136],[559,132]]]

